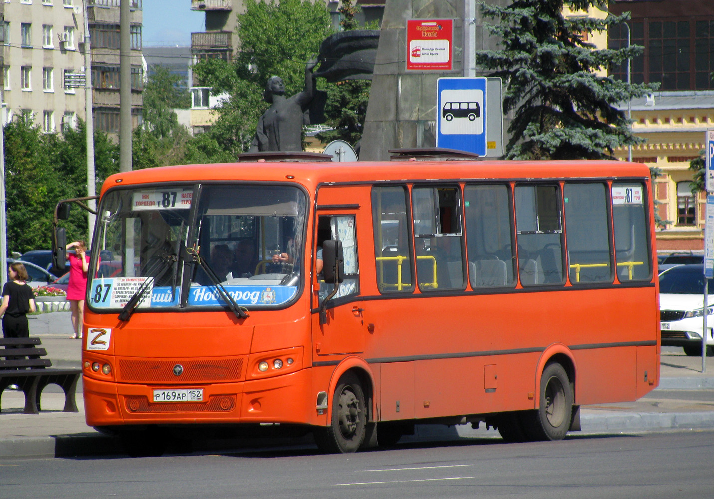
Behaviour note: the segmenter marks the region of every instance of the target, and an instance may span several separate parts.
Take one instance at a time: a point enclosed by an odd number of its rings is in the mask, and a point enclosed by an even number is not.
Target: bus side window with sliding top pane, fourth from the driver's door
[[[558,186],[517,185],[516,229],[521,285],[563,284]]]

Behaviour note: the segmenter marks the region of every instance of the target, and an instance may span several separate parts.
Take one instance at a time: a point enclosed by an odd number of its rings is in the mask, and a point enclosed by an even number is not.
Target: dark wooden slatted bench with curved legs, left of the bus
[[[51,368],[41,344],[40,338],[0,338],[0,411],[5,388],[18,385],[25,394],[25,413],[39,414],[42,390],[54,383],[64,390],[64,412],[79,412],[74,398],[81,369]]]

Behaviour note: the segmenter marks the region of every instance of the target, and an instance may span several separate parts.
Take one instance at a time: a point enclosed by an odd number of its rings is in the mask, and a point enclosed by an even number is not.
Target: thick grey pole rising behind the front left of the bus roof
[[[119,4],[119,171],[131,171],[131,25],[129,5]]]

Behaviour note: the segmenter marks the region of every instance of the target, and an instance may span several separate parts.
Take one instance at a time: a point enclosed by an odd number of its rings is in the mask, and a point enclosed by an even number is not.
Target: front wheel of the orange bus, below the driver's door
[[[313,431],[318,448],[326,453],[353,453],[366,433],[364,392],[356,375],[340,378],[332,399],[331,424]]]

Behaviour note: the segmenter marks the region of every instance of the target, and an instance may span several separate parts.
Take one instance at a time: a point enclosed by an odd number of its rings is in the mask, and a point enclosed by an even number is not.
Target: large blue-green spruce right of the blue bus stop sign
[[[629,14],[565,18],[563,7],[607,11],[605,0],[515,0],[506,7],[481,4],[486,26],[503,49],[478,51],[476,64],[505,84],[503,111],[513,112],[506,156],[513,159],[613,158],[618,147],[643,141],[633,135],[620,102],[654,89],[628,85],[597,71],[642,53],[639,46],[597,49],[580,35],[623,23]]]

